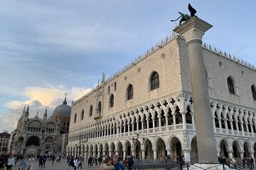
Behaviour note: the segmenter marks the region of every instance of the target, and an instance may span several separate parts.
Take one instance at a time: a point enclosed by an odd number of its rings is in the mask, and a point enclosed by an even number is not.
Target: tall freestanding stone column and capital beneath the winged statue
[[[206,69],[202,52],[202,37],[211,27],[209,23],[193,16],[174,29],[174,32],[185,38],[188,47],[193,108],[196,116],[196,141],[197,145],[200,146],[198,147],[199,163],[218,163]]]

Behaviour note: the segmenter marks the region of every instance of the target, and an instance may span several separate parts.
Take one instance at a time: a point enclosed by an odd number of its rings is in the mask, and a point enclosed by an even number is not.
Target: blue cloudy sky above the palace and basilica
[[[178,11],[213,25],[203,42],[256,65],[255,0],[1,0],[0,132],[24,106],[48,116],[170,35]]]

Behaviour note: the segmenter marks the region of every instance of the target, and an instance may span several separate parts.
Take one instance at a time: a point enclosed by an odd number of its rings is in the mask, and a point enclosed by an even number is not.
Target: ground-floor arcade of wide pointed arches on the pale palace
[[[198,162],[198,147],[195,132],[182,130],[175,134],[134,135],[133,137],[116,137],[111,140],[95,140],[94,142],[73,141],[68,144],[67,153],[75,157],[101,155],[112,156],[118,154],[125,158],[129,155],[158,161],[170,155],[172,161],[183,156],[186,162]],[[203,140],[203,139],[202,139]],[[242,158],[256,156],[256,140],[245,137],[227,137],[215,135],[218,156],[235,158],[238,162]]]

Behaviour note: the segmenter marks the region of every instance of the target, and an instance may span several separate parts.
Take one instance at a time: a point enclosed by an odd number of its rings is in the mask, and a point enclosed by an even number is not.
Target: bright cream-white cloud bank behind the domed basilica
[[[16,129],[16,124],[18,119],[21,118],[24,106],[26,108],[29,106],[29,118],[33,118],[37,112],[39,118],[43,118],[46,108],[49,117],[53,113],[54,109],[63,103],[66,91],[68,93],[67,101],[70,105],[72,100],[77,100],[91,91],[91,89],[82,87],[72,87],[68,89],[65,86],[50,85],[47,87],[27,87],[22,95],[26,96],[28,100],[16,100],[5,103],[7,111],[0,115],[0,132],[3,132],[4,130],[11,132]]]

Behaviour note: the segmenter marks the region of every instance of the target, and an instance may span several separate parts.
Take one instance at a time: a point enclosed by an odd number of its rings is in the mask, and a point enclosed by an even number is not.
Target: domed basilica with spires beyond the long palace
[[[24,108],[17,128],[11,132],[9,152],[12,154],[66,154],[71,107],[66,98],[48,118],[47,109],[43,118],[29,118],[29,108]]]

